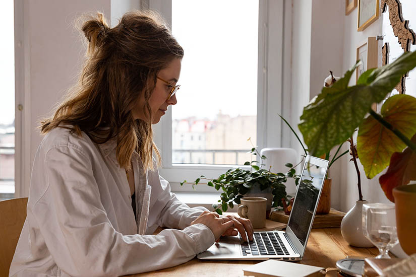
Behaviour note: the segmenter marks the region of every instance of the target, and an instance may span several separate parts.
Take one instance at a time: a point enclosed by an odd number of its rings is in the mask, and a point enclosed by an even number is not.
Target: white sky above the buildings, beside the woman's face
[[[172,0],[185,50],[172,118],[257,114],[258,1]]]

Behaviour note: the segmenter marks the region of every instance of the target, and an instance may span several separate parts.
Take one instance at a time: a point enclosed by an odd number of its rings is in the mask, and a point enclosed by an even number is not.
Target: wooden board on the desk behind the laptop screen
[[[332,228],[341,226],[341,220],[345,213],[339,212],[335,209],[329,211],[327,215],[316,215],[312,228]],[[275,211],[270,214],[270,220],[287,223],[289,216],[285,215],[283,211]]]

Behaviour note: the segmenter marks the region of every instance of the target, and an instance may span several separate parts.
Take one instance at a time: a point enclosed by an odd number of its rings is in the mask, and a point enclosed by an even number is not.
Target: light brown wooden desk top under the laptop
[[[335,267],[336,261],[346,256],[374,257],[378,253],[376,247],[349,246],[342,238],[339,228],[312,229],[304,258],[300,263]],[[209,261],[194,258],[174,267],[129,276],[243,276],[243,268],[258,262],[260,261]],[[336,276],[336,273],[330,272],[326,276]]]

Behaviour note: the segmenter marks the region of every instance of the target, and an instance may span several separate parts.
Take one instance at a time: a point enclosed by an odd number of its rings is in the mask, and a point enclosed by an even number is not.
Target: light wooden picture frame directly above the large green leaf
[[[358,82],[360,76],[370,68],[378,67],[378,41],[376,37],[368,37],[356,48],[356,59],[361,60],[362,64],[355,70],[355,84]],[[372,106],[374,111],[377,111],[377,103]]]

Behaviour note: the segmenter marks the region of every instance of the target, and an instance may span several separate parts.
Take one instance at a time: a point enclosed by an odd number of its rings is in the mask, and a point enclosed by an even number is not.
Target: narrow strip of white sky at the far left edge
[[[0,43],[0,124],[10,124],[15,119],[15,38],[13,0],[2,2],[0,17],[2,41]]]

